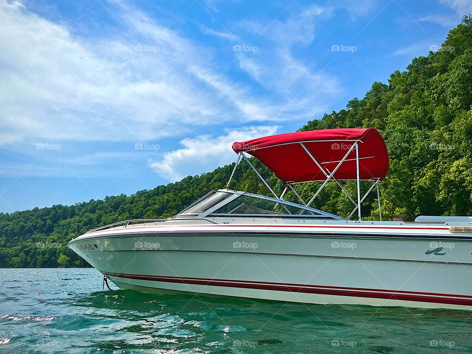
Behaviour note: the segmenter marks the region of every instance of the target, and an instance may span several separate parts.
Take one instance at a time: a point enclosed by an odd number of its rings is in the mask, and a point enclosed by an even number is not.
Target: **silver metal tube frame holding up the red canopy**
[[[340,130],[345,130],[345,129],[329,129],[330,132],[335,132],[335,131],[340,131]],[[375,131],[376,134],[378,134],[378,136],[380,137],[380,134],[374,129],[374,128],[369,128],[369,129],[356,129],[357,131],[363,131],[364,134],[366,131],[370,131],[372,132],[372,130]],[[323,132],[323,131],[317,131],[317,132]],[[303,132],[303,133],[306,133],[306,132]],[[362,133],[362,132],[360,132]],[[359,133],[359,137],[360,137],[360,133]],[[299,134],[299,133],[291,133],[291,134]],[[283,136],[283,135],[281,135]],[[333,136],[335,136],[335,134],[333,134]],[[278,136],[275,136],[275,137],[278,137]],[[270,138],[270,137],[269,137]],[[309,207],[311,203],[313,203],[313,201],[316,199],[316,197],[320,194],[320,192],[323,190],[323,188],[326,186],[326,184],[330,181],[330,180],[333,180],[334,182],[336,182],[339,187],[341,188],[341,190],[343,191],[343,193],[346,194],[346,196],[348,197],[348,199],[353,203],[354,205],[354,208],[353,210],[351,211],[351,213],[349,214],[348,216],[348,219],[350,219],[355,211],[357,210],[357,218],[358,220],[361,220],[361,205],[362,205],[362,202],[365,200],[365,198],[370,194],[370,192],[376,187],[377,188],[377,201],[378,201],[378,207],[379,207],[379,218],[380,220],[382,220],[382,211],[381,211],[381,199],[380,199],[380,188],[379,188],[379,183],[380,181],[383,179],[383,177],[385,176],[386,174],[386,171],[388,170],[388,155],[386,154],[386,148],[385,148],[385,145],[384,145],[384,142],[383,142],[383,139],[381,138],[381,143],[379,144],[379,139],[378,137],[377,138],[377,141],[376,141],[376,144],[377,145],[380,145],[380,148],[384,149],[384,154],[382,155],[382,158],[384,159],[385,156],[386,156],[386,159],[387,159],[387,162],[386,162],[386,170],[382,172],[383,175],[379,174],[379,177],[371,177],[369,179],[367,178],[363,178],[361,179],[360,176],[359,176],[359,161],[360,161],[360,158],[359,158],[359,148],[360,146],[362,146],[364,144],[364,141],[361,140],[361,139],[352,139],[352,140],[349,140],[349,143],[351,143],[352,145],[350,146],[350,148],[347,149],[347,152],[344,154],[344,156],[342,156],[342,158],[340,160],[337,160],[337,161],[330,161],[329,163],[337,163],[335,165],[335,167],[330,170],[328,169],[328,167],[326,166],[326,162],[324,161],[320,161],[316,156],[315,154],[312,152],[313,149],[314,149],[314,146],[313,144],[310,146],[310,148],[307,148],[307,143],[315,143],[315,142],[323,142],[323,143],[326,143],[326,142],[339,142],[339,141],[346,141],[346,140],[340,140],[340,139],[336,139],[336,138],[333,138],[332,140],[320,140],[320,141],[314,141],[314,140],[309,140],[309,141],[296,141],[296,139],[293,138],[293,136],[291,137],[291,140],[295,140],[295,141],[292,141],[292,142],[288,142],[288,143],[282,143],[282,144],[274,144],[274,145],[269,145],[269,146],[264,146],[264,147],[258,147],[257,144],[254,144],[255,141],[257,141],[257,139],[255,140],[252,140],[252,141],[248,141],[248,142],[245,142],[245,143],[235,143],[238,144],[238,146],[247,146],[248,148],[245,148],[245,149],[238,149],[238,148],[235,148],[235,145],[233,146],[233,149],[235,149],[236,152],[238,152],[238,156],[237,156],[237,160],[236,160],[236,164],[235,164],[235,167],[231,173],[231,176],[228,180],[228,183],[226,184],[226,188],[229,187],[229,184],[231,182],[231,179],[234,177],[234,174],[235,174],[235,171],[236,171],[236,168],[237,166],[239,165],[239,163],[241,161],[246,161],[248,163],[248,165],[252,168],[252,170],[256,173],[256,175],[261,179],[261,181],[264,183],[264,185],[267,187],[267,189],[270,191],[270,193],[276,198],[276,199],[279,199],[279,200],[283,200],[283,197],[285,195],[285,193],[290,189],[294,194],[295,196],[300,200],[300,202],[306,206],[306,207]],[[276,139],[275,139],[276,140]],[[280,140],[280,139],[279,139]],[[285,183],[285,189],[283,190],[282,194],[280,196],[277,196],[275,194],[275,192],[272,190],[272,188],[270,188],[270,186],[268,185],[268,183],[266,182],[266,180],[261,176],[261,174],[257,171],[257,169],[253,166],[253,164],[249,161],[249,159],[247,158],[247,156],[245,155],[245,153],[250,153],[250,154],[253,154],[253,152],[255,152],[256,150],[259,150],[259,149],[264,149],[264,148],[274,148],[274,147],[280,147],[280,146],[287,146],[287,145],[298,145],[299,147],[301,147],[302,150],[300,151],[304,151],[304,153],[307,154],[307,156],[309,156],[309,160],[311,160],[311,162],[319,169],[319,171],[321,171],[321,173],[323,174],[324,176],[324,179],[315,179],[315,180],[307,180],[307,181],[300,181],[300,182],[294,182],[294,181],[284,181],[283,182]],[[383,144],[383,147],[382,147],[382,144]],[[266,144],[267,145],[267,144]],[[364,144],[365,145],[365,144]],[[366,149],[368,148],[372,148],[372,146],[368,146],[368,144],[366,144],[367,146],[365,147]],[[299,149],[298,149],[299,150]],[[350,194],[349,192],[344,188],[344,186],[340,183],[340,180],[352,180],[352,178],[343,178],[343,179],[339,179],[339,178],[336,178],[335,175],[336,175],[336,172],[343,166],[343,164],[346,162],[346,161],[353,161],[354,159],[351,158],[351,159],[348,159],[349,155],[353,152],[353,150],[355,150],[355,181],[356,181],[356,187],[357,187],[357,195],[356,195],[356,199],[354,199]],[[291,151],[293,153],[293,150]],[[381,153],[383,153],[383,151],[381,151]],[[373,153],[370,153],[370,152],[366,152],[366,150],[364,150],[364,156],[367,155],[370,155],[372,154],[373,156],[367,156],[367,157],[362,157],[362,158],[374,158],[374,154]],[[257,153],[254,153],[254,155],[257,155]],[[299,157],[299,156],[297,156]],[[264,163],[264,161],[261,161]],[[270,167],[269,167],[270,168]],[[318,171],[318,170],[317,170]],[[354,171],[353,171],[354,172]],[[364,168],[364,171],[363,171],[363,175],[365,176],[365,168]],[[360,181],[361,180],[369,180],[372,182],[371,186],[369,187],[369,189],[367,190],[367,192],[361,196],[360,194]],[[300,197],[300,195],[296,192],[295,188],[294,188],[294,184],[296,183],[305,183],[305,182],[311,182],[311,181],[322,181],[322,184],[321,186],[318,188],[318,190],[315,192],[315,194],[312,196],[312,198],[308,201],[308,203],[305,203],[305,201]]]

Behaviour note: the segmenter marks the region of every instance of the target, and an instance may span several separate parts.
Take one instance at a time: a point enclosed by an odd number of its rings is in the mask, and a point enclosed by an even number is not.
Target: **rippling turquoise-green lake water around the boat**
[[[102,291],[94,269],[0,275],[0,353],[472,353],[467,311]]]

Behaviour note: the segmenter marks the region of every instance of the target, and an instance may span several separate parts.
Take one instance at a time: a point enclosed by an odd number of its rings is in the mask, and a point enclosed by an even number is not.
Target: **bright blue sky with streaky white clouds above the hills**
[[[467,13],[472,0],[0,0],[0,212],[234,162],[233,142],[345,108]]]

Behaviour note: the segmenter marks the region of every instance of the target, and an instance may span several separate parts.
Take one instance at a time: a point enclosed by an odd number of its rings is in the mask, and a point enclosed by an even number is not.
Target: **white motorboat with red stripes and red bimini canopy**
[[[237,142],[233,150],[236,164],[225,188],[172,218],[102,226],[68,247],[120,289],[472,309],[472,217],[383,220],[379,185],[389,164],[375,128],[279,134]],[[280,195],[254,158],[283,182]],[[242,163],[271,196],[229,189]],[[311,207],[328,182],[352,202],[347,217]],[[346,183],[354,182],[356,193],[349,193]],[[299,193],[303,183],[319,185],[309,200]],[[379,220],[362,220],[362,203],[375,191]],[[289,195],[297,203],[284,198]]]

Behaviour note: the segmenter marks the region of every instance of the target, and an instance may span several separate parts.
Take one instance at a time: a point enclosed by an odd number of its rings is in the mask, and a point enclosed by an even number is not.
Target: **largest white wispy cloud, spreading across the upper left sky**
[[[0,145],[136,142],[270,119],[267,102],[224,75],[207,89],[216,65],[202,48],[120,1],[103,4],[125,29],[97,39],[0,0]]]

